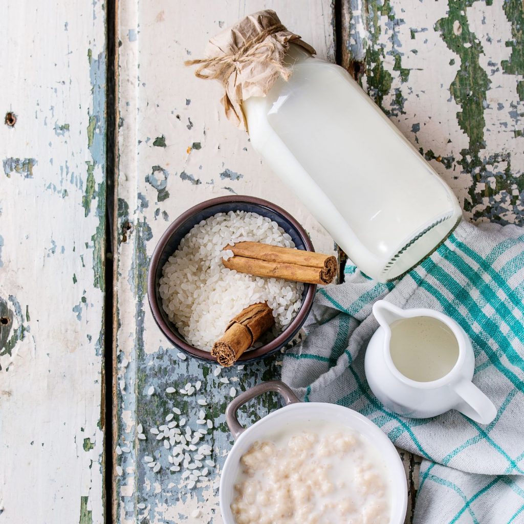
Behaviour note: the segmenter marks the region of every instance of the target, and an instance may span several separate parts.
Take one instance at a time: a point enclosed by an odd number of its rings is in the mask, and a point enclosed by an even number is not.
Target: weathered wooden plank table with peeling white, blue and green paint
[[[278,377],[280,362],[216,375],[181,359],[151,318],[146,274],[170,221],[228,193],[283,206],[318,250],[334,247],[225,120],[219,84],[182,65],[266,7],[361,82],[468,219],[523,223],[520,0],[4,2],[0,524],[221,522],[231,388]],[[192,488],[149,431],[174,407],[192,430],[200,409],[213,420],[198,445],[214,465]],[[409,522],[417,460],[403,459]]]

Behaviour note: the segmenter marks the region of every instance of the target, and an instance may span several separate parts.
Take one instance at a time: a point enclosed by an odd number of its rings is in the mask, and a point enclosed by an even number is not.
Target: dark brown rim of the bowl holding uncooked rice
[[[180,348],[185,353],[188,353],[200,360],[204,360],[208,362],[216,362],[216,359],[211,356],[209,351],[200,350],[199,348],[189,345],[187,342],[181,339],[176,333],[174,333],[172,329],[170,328],[170,326],[168,325],[168,323],[163,319],[162,314],[160,312],[160,307],[156,300],[155,275],[156,275],[156,269],[157,269],[157,266],[160,260],[160,256],[162,254],[164,246],[171,238],[171,235],[175,231],[177,231],[177,229],[186,220],[188,220],[195,213],[203,211],[206,208],[210,208],[213,205],[226,204],[226,203],[232,203],[232,202],[233,203],[234,202],[248,203],[248,204],[256,204],[256,205],[264,206],[266,208],[269,208],[271,211],[274,211],[282,215],[287,221],[289,221],[292,224],[292,226],[295,228],[297,233],[300,235],[300,237],[302,238],[302,242],[304,243],[306,247],[306,250],[307,251],[315,250],[308,234],[305,232],[304,228],[299,224],[299,222],[296,219],[294,219],[293,216],[291,216],[287,211],[280,208],[278,205],[273,204],[272,202],[269,202],[267,200],[257,198],[256,196],[227,195],[227,196],[219,196],[217,198],[210,199],[210,200],[205,200],[204,202],[201,202],[200,204],[194,205],[192,208],[188,209],[187,211],[184,211],[177,219],[175,219],[169,225],[167,230],[160,237],[160,240],[158,241],[155,249],[153,250],[153,253],[151,255],[151,260],[149,263],[148,274],[147,274],[147,298],[149,301],[149,306],[151,308],[151,313],[153,314],[153,318],[156,324],[158,325],[162,333],[167,337],[167,339],[171,343],[173,343],[176,347]],[[257,347],[253,350],[250,350],[244,353],[237,361],[239,364],[258,360],[271,353],[275,353],[283,345],[289,342],[296,333],[298,333],[298,331],[302,327],[302,324],[305,321],[305,318],[307,317],[309,311],[311,310],[311,306],[313,305],[313,298],[315,296],[315,291],[316,291],[316,285],[312,285],[312,284],[306,284],[306,285],[309,287],[308,287],[307,292],[305,293],[305,298],[302,302],[300,309],[297,312],[297,315],[291,321],[291,323],[288,326],[286,326],[286,328],[282,331],[282,333],[280,333],[274,340],[272,340],[268,344],[265,344],[263,346]]]

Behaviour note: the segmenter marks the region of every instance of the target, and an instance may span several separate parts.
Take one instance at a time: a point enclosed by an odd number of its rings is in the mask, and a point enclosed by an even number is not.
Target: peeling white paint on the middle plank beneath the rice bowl
[[[289,9],[285,0],[270,4],[226,2],[220,6],[202,0],[183,0],[173,5],[157,0],[119,3],[122,46],[119,48],[118,198],[125,201],[127,205],[121,202],[121,207],[128,210],[125,219],[121,220],[132,223],[134,230],[127,241],[120,244],[118,253],[117,374],[118,380],[125,381],[125,390],[118,397],[119,411],[123,414],[118,438],[133,441],[135,449],[126,454],[124,460],[126,464],[136,461],[137,480],[134,497],[118,503],[120,524],[135,522],[143,514],[151,524],[180,522],[184,518],[195,522],[191,513],[197,508],[200,509],[198,522],[221,522],[215,478],[220,472],[220,464],[211,468],[208,480],[199,481],[197,487],[188,492],[179,482],[179,476],[169,472],[163,454],[166,450],[152,442],[149,427],[144,425],[148,440],[136,442],[129,419],[130,413],[149,409],[155,402],[161,405],[167,398],[166,386],[171,386],[178,378],[187,374],[192,380],[194,378],[193,381],[196,377],[202,379],[201,365],[197,366],[191,358],[181,361],[176,357],[176,351],[170,349],[153,321],[147,299],[139,299],[138,269],[145,264],[144,257],[151,254],[169,223],[198,202],[234,191],[261,196],[281,205],[304,225],[316,249],[331,252],[334,247],[332,239],[304,206],[263,165],[250,147],[248,136],[226,121],[219,103],[220,86],[196,79],[193,71],[183,66],[188,57],[201,56],[208,39],[222,27],[265,7],[275,9],[282,23],[311,42],[321,57],[333,60],[332,6],[324,0],[308,0],[301,9]],[[137,28],[136,39],[129,39],[129,30],[133,28]],[[164,141],[166,147],[163,147]],[[235,174],[228,177],[228,173]],[[165,191],[169,192],[168,198],[165,198]],[[145,227],[150,228],[151,238],[145,241],[144,252],[144,241],[139,241],[139,235]],[[143,328],[137,334],[137,322],[142,322],[141,312],[145,312]],[[137,342],[137,339],[140,340]],[[173,359],[169,380],[155,376],[158,359],[162,362]],[[129,364],[124,366],[127,362]],[[147,374],[145,385],[136,383],[139,369]],[[208,391],[211,387],[213,391],[216,388],[215,401],[218,402],[228,397],[228,388],[222,391],[217,384],[213,386],[215,383],[217,378],[212,373],[207,383],[203,381]],[[154,385],[157,392],[146,398],[145,389],[150,385]],[[182,402],[187,402],[192,406],[191,399],[179,397],[171,394],[167,405],[180,407]],[[194,409],[198,409],[194,403]],[[211,402],[209,407],[212,408]],[[188,414],[189,423],[191,413]],[[158,416],[163,418],[165,415],[159,413]],[[145,424],[143,418],[138,422]],[[214,456],[220,458],[230,444],[227,433],[221,433],[224,431],[223,415],[215,419],[215,428],[217,423],[222,424],[222,429],[213,430],[211,438]],[[219,435],[222,436],[219,438]],[[143,451],[146,449],[147,453]],[[156,474],[151,468],[145,471],[143,466],[143,456],[151,453],[156,453],[156,460],[159,460],[157,455],[161,461],[165,460]],[[223,462],[223,458],[220,461]],[[117,479],[127,484],[130,481],[129,475],[127,479]],[[122,487],[117,486],[117,498],[118,494],[122,494]],[[145,509],[136,506],[142,503],[146,504]]]

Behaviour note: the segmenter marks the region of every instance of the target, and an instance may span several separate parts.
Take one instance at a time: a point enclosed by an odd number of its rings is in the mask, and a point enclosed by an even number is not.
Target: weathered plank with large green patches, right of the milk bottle
[[[343,2],[344,66],[451,185],[473,222],[524,224],[523,6]],[[420,457],[404,455],[410,523]]]

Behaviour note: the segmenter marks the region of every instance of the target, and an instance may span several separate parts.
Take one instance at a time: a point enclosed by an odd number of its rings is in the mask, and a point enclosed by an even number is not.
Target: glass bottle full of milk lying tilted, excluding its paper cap
[[[285,62],[242,102],[253,147],[356,266],[397,278],[460,222],[455,195],[343,68],[294,43]]]

